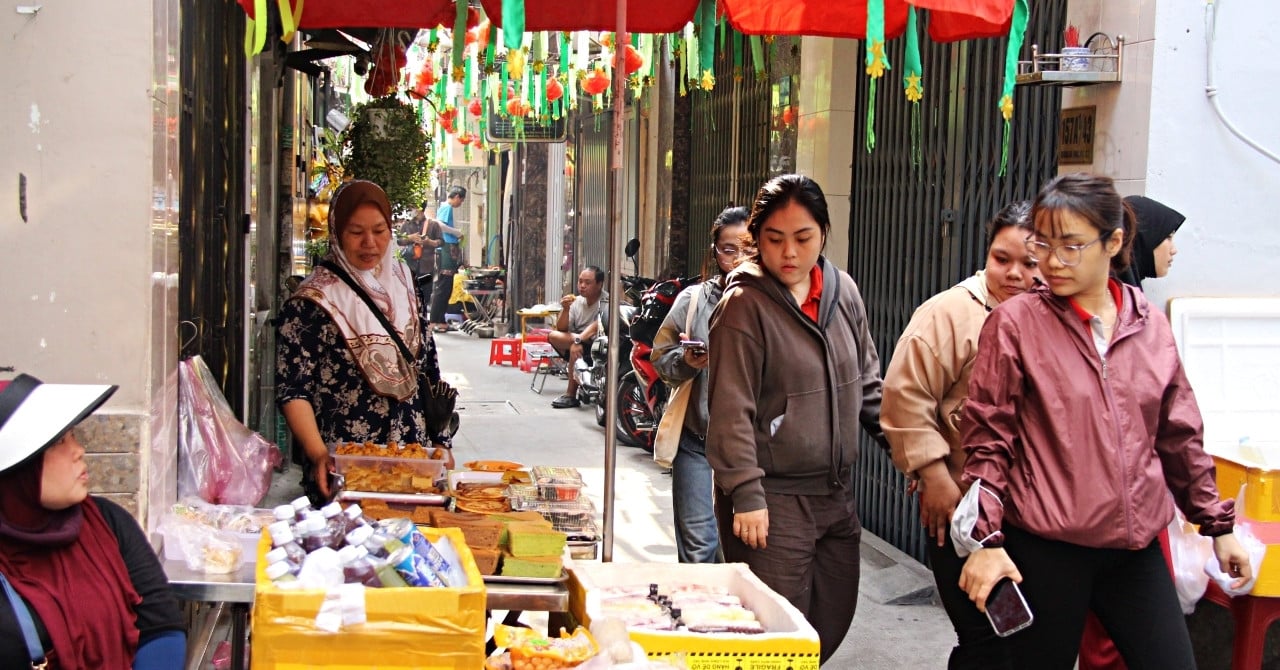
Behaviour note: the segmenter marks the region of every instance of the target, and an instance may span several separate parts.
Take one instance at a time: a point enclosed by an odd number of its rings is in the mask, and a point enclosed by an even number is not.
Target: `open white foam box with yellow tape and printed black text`
[[[748,569],[745,564],[598,564],[566,561],[570,611],[589,626],[599,616],[602,589],[659,584],[704,584],[737,596],[755,612],[764,633],[690,633],[631,630],[631,641],[650,658],[682,653],[690,670],[818,670],[818,632],[800,610]]]

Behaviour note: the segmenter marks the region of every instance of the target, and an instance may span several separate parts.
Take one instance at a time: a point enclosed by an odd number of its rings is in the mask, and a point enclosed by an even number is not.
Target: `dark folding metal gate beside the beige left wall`
[[[179,81],[178,318],[196,327],[230,406],[244,406],[244,12],[183,0]],[[243,416],[241,418],[244,419]]]

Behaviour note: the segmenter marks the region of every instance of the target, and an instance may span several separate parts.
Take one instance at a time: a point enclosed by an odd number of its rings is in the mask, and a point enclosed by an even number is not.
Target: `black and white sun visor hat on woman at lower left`
[[[0,471],[54,443],[115,393],[115,386],[46,384],[20,374],[0,389]]]

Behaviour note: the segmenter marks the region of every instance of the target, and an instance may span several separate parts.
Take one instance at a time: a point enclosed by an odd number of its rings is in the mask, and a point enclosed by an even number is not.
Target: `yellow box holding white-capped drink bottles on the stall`
[[[253,596],[253,670],[475,670],[484,666],[485,587],[456,528],[422,528],[448,537],[467,574],[462,588],[365,589],[367,623],[326,633],[315,626],[324,591],[285,591],[266,579],[269,534],[259,546]]]

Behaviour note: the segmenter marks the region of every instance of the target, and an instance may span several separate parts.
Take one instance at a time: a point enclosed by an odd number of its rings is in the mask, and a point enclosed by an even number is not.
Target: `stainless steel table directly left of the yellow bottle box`
[[[193,609],[187,667],[195,670],[200,666],[223,616],[229,616],[232,625],[232,669],[248,667],[244,639],[248,633],[248,611],[253,603],[255,564],[246,562],[232,574],[211,575],[191,570],[183,561],[160,562],[174,596]]]

